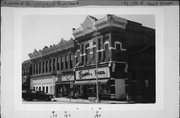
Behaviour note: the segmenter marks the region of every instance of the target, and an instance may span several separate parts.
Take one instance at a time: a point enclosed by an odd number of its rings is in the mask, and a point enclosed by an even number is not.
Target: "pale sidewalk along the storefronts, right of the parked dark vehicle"
[[[57,102],[68,102],[68,103],[80,103],[80,104],[97,104],[96,102],[89,101],[88,99],[70,99],[65,97],[54,98]],[[101,100],[98,104],[127,104],[127,101],[115,101],[115,100]]]

